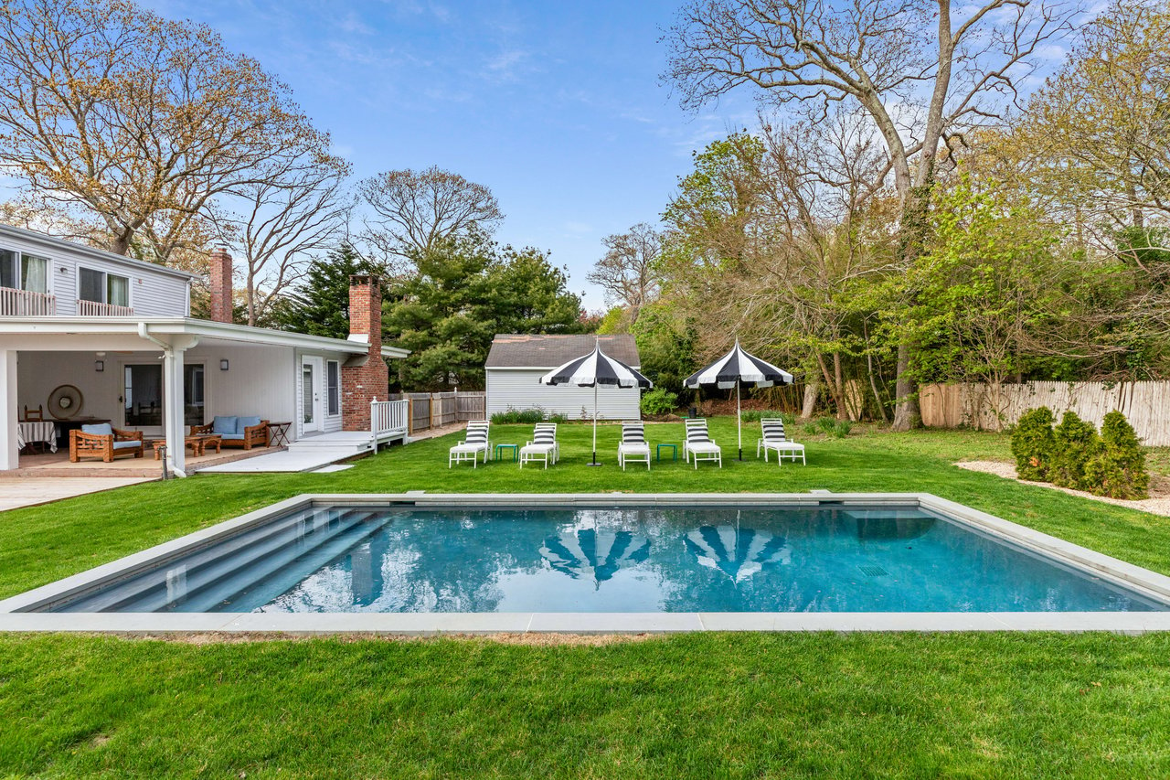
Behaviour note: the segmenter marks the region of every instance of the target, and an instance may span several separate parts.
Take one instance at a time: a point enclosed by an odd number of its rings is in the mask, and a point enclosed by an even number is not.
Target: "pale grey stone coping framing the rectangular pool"
[[[422,507],[604,508],[662,506],[917,505],[1066,566],[1170,604],[1170,577],[931,493],[304,493],[119,560],[0,601],[0,631],[109,634],[669,634],[682,631],[1115,631],[1170,630],[1166,613],[33,613],[78,591],[124,579],[221,536],[311,508]]]

